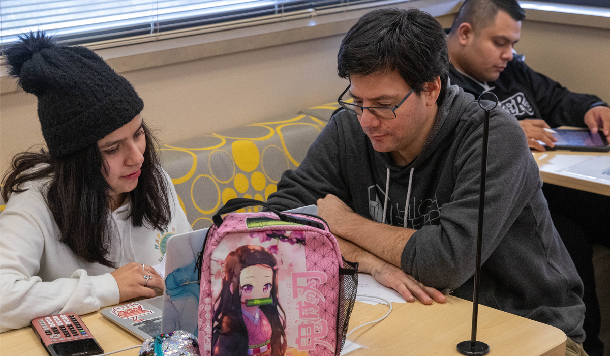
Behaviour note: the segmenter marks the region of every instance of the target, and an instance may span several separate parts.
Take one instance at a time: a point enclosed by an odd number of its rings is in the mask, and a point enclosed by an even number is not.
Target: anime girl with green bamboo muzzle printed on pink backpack
[[[285,313],[278,300],[278,263],[267,249],[243,245],[224,261],[215,301],[212,355],[282,356]]]

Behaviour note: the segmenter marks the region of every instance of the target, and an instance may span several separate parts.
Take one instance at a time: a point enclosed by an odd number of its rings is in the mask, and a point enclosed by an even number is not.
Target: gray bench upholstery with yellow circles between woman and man
[[[193,229],[209,227],[213,214],[232,198],[266,201],[282,173],[303,161],[326,123],[298,115],[163,145],[163,169]]]

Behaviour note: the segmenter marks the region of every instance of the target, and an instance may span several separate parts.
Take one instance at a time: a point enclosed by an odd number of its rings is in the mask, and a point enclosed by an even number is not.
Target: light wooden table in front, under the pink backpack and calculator
[[[394,310],[379,324],[367,325],[349,340],[364,346],[349,356],[372,355],[459,355],[456,345],[470,340],[472,302],[453,296],[447,303],[423,305],[393,303]],[[356,302],[350,330],[385,314],[386,305]],[[142,344],[138,338],[96,313],[82,316],[85,325],[104,352]],[[565,334],[549,325],[480,306],[478,340],[491,347],[490,356],[564,356]],[[115,354],[135,356],[139,349]],[[0,355],[45,356],[45,349],[29,327],[0,334]]]

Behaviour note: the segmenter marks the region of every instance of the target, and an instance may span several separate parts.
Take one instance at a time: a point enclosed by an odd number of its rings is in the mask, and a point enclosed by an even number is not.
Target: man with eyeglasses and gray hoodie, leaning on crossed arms
[[[364,15],[343,39],[334,115],[268,203],[317,203],[343,257],[407,300],[472,300],[484,112],[447,85],[442,27],[420,10]],[[347,100],[343,96],[353,98]],[[523,131],[491,112],[480,302],[576,343],[583,285],[540,191]]]

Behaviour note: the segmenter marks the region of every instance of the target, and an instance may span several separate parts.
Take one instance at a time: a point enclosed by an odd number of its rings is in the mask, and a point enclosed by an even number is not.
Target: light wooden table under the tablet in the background
[[[557,150],[546,152],[534,151],[533,154],[538,164],[542,181],[545,183],[610,196],[610,183],[603,183],[593,178],[584,178],[561,172],[564,169],[597,156],[610,156],[610,153]]]

